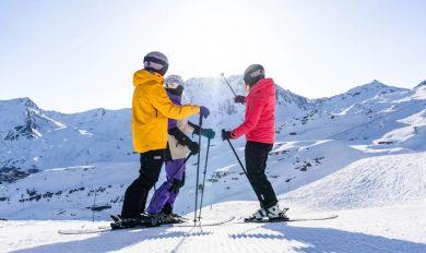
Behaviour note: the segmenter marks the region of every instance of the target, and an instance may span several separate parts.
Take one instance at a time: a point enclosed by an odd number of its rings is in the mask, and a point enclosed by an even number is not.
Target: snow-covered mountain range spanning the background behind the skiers
[[[240,76],[229,76],[229,81],[237,94],[244,94]],[[242,120],[245,108],[233,103],[221,79],[188,80],[186,99],[211,109],[212,116],[203,125],[216,133]],[[346,167],[359,159],[419,154],[417,158],[424,160],[426,82],[405,89],[374,81],[321,99],[308,99],[277,86],[276,105],[277,142],[270,155],[268,173],[286,203],[297,203],[296,195],[306,201],[310,196],[306,191],[311,190],[305,191],[304,186],[333,177],[336,171],[347,169],[355,177],[358,170]],[[0,101],[0,217],[88,219],[95,212],[96,218],[105,219],[119,212],[123,191],[139,167],[139,157],[131,147],[130,109],[66,115],[38,108],[29,98],[17,98]],[[197,117],[192,121],[197,123]],[[244,140],[235,145],[242,157]],[[187,185],[176,206],[182,214],[193,208],[194,162],[190,160]],[[205,205],[255,198],[247,183],[238,183],[246,180],[245,176],[218,134],[212,143],[209,164]],[[423,168],[418,162],[414,167]],[[358,183],[362,186],[363,180]],[[417,188],[410,194],[394,194],[403,201],[425,197],[424,181],[415,183]],[[299,192],[295,194],[294,190]],[[364,193],[357,194],[359,197]],[[378,197],[383,195],[356,202],[358,206],[341,205],[343,201],[333,200],[340,208],[353,208],[371,204]],[[327,203],[324,195],[315,198]],[[318,203],[311,202],[310,206],[319,207]]]

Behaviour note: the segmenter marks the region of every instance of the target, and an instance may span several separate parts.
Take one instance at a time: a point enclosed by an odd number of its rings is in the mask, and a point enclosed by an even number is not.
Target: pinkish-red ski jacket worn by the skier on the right
[[[246,134],[247,141],[273,144],[275,141],[275,85],[272,79],[260,80],[245,100],[246,117],[230,132],[233,138]]]

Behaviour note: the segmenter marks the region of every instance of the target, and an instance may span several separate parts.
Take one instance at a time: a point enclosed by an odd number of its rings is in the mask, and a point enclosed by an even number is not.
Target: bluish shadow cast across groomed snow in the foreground
[[[332,228],[291,227],[283,224],[265,224],[260,226],[274,231],[274,234],[256,233],[256,229],[249,229],[241,233],[229,233],[228,240],[285,240],[304,243],[303,246],[292,249],[299,252],[426,252],[426,244],[389,239],[380,236],[371,236],[359,232],[350,232]],[[258,227],[258,228],[260,228]],[[114,232],[99,233],[97,237],[78,241],[57,242],[52,244],[38,245],[29,249],[17,250],[15,253],[27,252],[106,252],[119,251],[127,246],[155,240],[158,250],[174,252],[189,237],[208,237],[213,232],[167,231],[169,228],[151,228],[140,230],[119,230]],[[223,227],[226,229],[226,227]],[[70,237],[70,236],[67,236]],[[171,248],[166,243],[167,239],[180,239]],[[165,240],[164,243],[162,240]],[[271,241],[272,242],[272,241]],[[221,244],[226,242],[221,241]],[[170,249],[165,249],[165,245]],[[143,250],[142,248],[140,250]]]

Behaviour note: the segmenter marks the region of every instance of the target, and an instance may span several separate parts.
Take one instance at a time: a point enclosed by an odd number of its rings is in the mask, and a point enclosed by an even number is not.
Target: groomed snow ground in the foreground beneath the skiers
[[[426,202],[339,213],[338,219],[288,224],[227,224],[122,230],[63,236],[58,229],[86,229],[107,222],[0,221],[0,251],[50,252],[426,252]],[[222,203],[203,210],[205,218],[247,215],[255,205]],[[312,214],[293,213],[295,216]],[[321,215],[321,214],[313,214]],[[326,215],[326,214],[322,214]],[[235,221],[237,222],[237,221]]]

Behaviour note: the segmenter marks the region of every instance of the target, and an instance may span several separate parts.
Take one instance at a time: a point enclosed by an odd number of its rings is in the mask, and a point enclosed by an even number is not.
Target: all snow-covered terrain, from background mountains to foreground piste
[[[240,77],[230,81],[242,93]],[[212,109],[204,125],[215,130],[242,118],[225,88],[217,79],[187,82],[187,99]],[[60,236],[58,229],[105,226],[120,212],[139,170],[130,110],[62,115],[22,98],[0,101],[0,217],[12,219],[0,221],[0,252],[426,252],[426,85],[375,81],[316,100],[280,89],[276,99],[267,171],[280,205],[292,217],[338,219]],[[242,158],[244,140],[233,143]],[[189,217],[194,162],[175,208]],[[255,200],[227,143],[213,140],[203,218],[247,216]],[[93,217],[100,221],[87,221]]]

